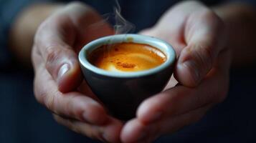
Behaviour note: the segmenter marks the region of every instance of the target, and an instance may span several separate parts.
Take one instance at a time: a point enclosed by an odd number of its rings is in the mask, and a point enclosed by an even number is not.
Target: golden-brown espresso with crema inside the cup
[[[147,44],[106,44],[89,54],[94,66],[107,71],[143,71],[152,69],[166,61],[162,51]]]

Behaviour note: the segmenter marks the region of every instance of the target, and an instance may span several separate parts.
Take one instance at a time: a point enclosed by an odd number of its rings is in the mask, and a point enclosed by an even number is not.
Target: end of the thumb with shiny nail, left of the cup
[[[70,92],[82,82],[77,54],[71,47],[52,46],[45,67],[57,83],[60,92]]]

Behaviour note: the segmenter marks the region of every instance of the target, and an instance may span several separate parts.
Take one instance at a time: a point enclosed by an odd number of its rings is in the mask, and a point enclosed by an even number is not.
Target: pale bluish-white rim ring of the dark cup
[[[166,50],[165,54],[167,56],[167,59],[163,64],[156,66],[152,69],[147,69],[143,71],[124,71],[124,72],[106,71],[104,69],[98,68],[97,66],[94,66],[93,64],[90,64],[90,62],[87,60],[87,51],[93,48],[96,49],[99,46],[102,46],[103,44],[109,43],[111,40],[113,40],[111,44],[122,43],[122,42],[133,42],[138,44],[148,44],[156,47],[161,51],[162,49],[165,49]],[[84,68],[96,74],[100,74],[106,77],[133,78],[133,77],[145,77],[151,74],[156,74],[159,71],[162,71],[163,69],[166,69],[171,65],[174,65],[174,62],[176,61],[176,53],[174,51],[174,48],[169,43],[161,39],[157,39],[153,36],[144,36],[140,34],[115,34],[110,36],[103,36],[99,39],[90,41],[88,44],[82,47],[82,49],[79,52],[78,59],[80,61],[81,66],[83,66]]]

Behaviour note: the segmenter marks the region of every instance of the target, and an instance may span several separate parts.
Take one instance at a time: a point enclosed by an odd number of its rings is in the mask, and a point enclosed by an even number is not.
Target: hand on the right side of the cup
[[[182,2],[141,34],[156,36],[174,46],[177,81],[172,78],[163,92],[138,107],[137,117],[121,131],[123,142],[152,142],[162,134],[199,121],[214,104],[224,100],[229,86],[230,58],[224,24],[206,6]]]

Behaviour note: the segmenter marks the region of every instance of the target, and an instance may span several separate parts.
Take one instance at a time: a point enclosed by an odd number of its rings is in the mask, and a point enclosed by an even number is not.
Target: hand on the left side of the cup
[[[60,124],[91,138],[119,142],[122,123],[108,116],[82,82],[77,61],[83,45],[109,34],[110,26],[85,4],[68,4],[49,16],[34,38],[34,94]]]

